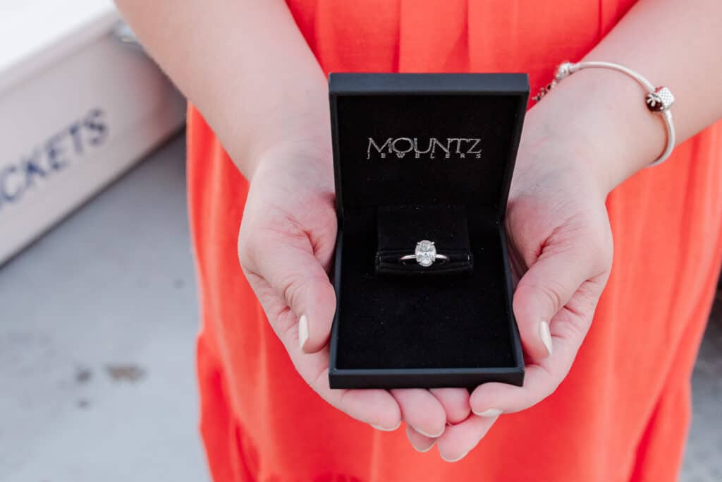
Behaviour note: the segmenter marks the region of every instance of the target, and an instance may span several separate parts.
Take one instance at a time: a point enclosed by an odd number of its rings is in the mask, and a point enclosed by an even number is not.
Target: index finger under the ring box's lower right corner
[[[544,400],[569,372],[587,328],[585,319],[562,309],[552,322],[552,356],[526,367],[522,387],[505,383],[479,385],[469,398],[471,410],[478,416],[494,418],[500,413],[526,410]]]

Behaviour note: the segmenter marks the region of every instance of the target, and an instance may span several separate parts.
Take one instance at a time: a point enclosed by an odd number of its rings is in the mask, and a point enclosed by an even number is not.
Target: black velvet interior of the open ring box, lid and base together
[[[505,85],[500,77],[489,78],[493,85]],[[427,82],[427,77],[419,79]],[[472,87],[477,85],[474,79],[467,82]],[[362,82],[367,80],[375,82],[374,77]],[[388,95],[352,92],[332,99],[341,241],[336,251],[335,368],[517,366],[521,361],[515,356],[518,337],[510,313],[502,223],[520,112],[523,115],[526,106],[521,90],[528,87],[524,84],[519,92],[484,92],[484,85],[478,85],[480,93],[454,95],[408,94],[403,82],[392,87]],[[383,146],[386,139],[399,138],[414,139],[422,147],[440,139],[449,155],[440,149],[436,155],[399,156],[386,147],[382,152],[370,147],[369,139]],[[472,144],[479,155],[466,152]],[[408,140],[397,142],[402,150],[409,145]],[[424,238],[435,241],[440,253],[447,244],[463,245],[453,226],[434,231],[429,225],[399,220],[399,231],[392,232],[382,222],[388,234],[378,233],[379,210],[383,213],[399,205],[431,214],[451,205],[461,210],[473,270],[463,276],[378,275],[379,240],[399,241],[409,253]]]

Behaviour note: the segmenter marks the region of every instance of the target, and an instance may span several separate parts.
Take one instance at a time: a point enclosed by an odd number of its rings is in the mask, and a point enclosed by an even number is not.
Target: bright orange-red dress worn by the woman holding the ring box
[[[632,3],[289,1],[325,72],[528,72],[533,92]],[[378,431],[337,411],[297,374],[238,266],[248,183],[191,107],[200,429],[214,480],[676,480],[721,264],[721,134],[718,123],[612,191],[612,275],[569,376],[448,463],[416,452],[403,427]]]

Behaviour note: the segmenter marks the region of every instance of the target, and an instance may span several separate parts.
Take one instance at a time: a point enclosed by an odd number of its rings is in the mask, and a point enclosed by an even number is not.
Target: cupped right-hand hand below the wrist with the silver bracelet
[[[438,439],[458,460],[502,413],[525,410],[556,390],[592,321],[612,265],[612,233],[600,181],[583,146],[537,136],[529,126],[508,202],[513,311],[526,353],[523,387],[487,383],[471,394],[473,414]],[[432,439],[414,436],[417,444]]]

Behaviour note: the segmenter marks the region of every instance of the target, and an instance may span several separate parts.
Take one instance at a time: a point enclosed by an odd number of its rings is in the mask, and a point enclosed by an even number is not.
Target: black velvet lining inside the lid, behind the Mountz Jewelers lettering
[[[350,95],[336,100],[342,207],[383,205],[473,205],[485,218],[496,218],[506,202],[508,150],[516,125],[513,95]],[[343,121],[345,119],[345,121]],[[413,152],[399,158],[370,147],[388,139],[416,139],[420,150],[430,139],[479,139],[479,158],[461,158],[451,142],[450,158],[437,148],[434,157]],[[464,142],[469,150],[474,142]],[[408,142],[400,140],[399,149]],[[476,150],[475,149],[475,150]],[[371,152],[369,152],[369,150]],[[513,159],[510,160],[513,163]]]

